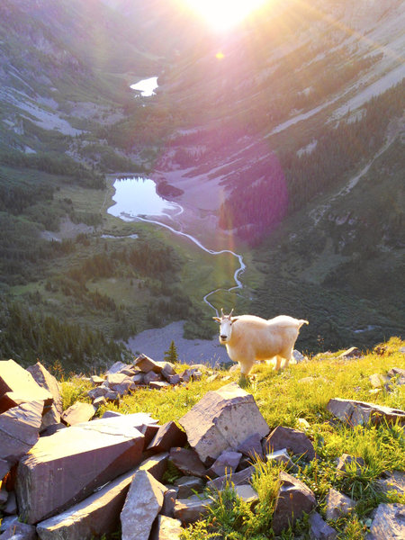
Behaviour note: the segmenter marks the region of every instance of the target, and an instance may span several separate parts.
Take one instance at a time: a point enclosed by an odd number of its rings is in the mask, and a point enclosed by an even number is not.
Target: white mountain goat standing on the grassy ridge
[[[233,311],[233,310],[232,310]],[[282,359],[287,367],[293,347],[303,324],[308,320],[293,319],[280,315],[275,319],[261,319],[255,315],[212,317],[220,323],[220,344],[227,347],[229,358],[238,362],[242,375],[249,374],[255,361],[264,362],[275,358],[275,370],[279,371]]]

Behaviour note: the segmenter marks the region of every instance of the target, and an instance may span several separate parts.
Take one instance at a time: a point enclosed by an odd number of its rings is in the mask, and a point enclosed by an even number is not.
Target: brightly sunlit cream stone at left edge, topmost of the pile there
[[[43,401],[43,405],[47,407],[50,407],[53,401],[51,393],[45,388],[41,388],[32,375],[21,365],[18,365],[14,360],[1,360],[0,412],[7,410],[7,407],[11,409],[2,402],[4,394],[8,392],[15,392],[14,395],[21,396],[26,402]]]

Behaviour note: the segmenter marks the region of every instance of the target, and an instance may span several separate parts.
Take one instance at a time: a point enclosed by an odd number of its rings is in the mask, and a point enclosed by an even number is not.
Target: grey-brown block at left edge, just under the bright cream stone
[[[43,401],[29,401],[0,414],[0,455],[4,462],[16,464],[37,443],[42,410]]]

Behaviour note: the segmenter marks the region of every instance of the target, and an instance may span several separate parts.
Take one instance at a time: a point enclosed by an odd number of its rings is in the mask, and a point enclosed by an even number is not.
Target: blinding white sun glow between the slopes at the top
[[[216,31],[228,31],[268,0],[185,0]]]

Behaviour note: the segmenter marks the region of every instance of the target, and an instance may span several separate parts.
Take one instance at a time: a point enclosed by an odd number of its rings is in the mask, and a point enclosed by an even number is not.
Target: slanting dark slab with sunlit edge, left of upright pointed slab
[[[40,540],[91,540],[118,531],[120,512],[137,470],[122,474],[62,514],[41,521],[37,525]]]

